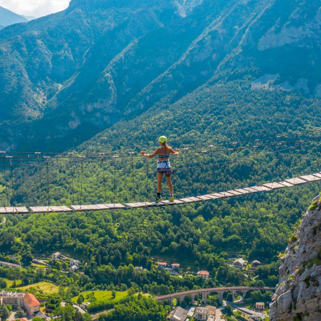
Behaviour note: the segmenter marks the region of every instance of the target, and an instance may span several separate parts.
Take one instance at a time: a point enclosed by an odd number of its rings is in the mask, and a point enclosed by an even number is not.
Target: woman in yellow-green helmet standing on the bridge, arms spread
[[[173,183],[171,179],[171,164],[170,164],[170,154],[177,155],[179,153],[179,149],[176,148],[175,150],[167,144],[167,137],[161,136],[158,138],[158,143],[161,147],[157,148],[152,154],[145,154],[145,151],[142,150],[140,153],[147,157],[152,158],[157,156],[157,168],[156,168],[156,177],[157,177],[157,196],[155,203],[159,203],[163,200],[161,196],[162,192],[162,182],[163,182],[163,175],[165,174],[167,184],[170,190],[170,201],[174,202],[174,193],[173,193]]]

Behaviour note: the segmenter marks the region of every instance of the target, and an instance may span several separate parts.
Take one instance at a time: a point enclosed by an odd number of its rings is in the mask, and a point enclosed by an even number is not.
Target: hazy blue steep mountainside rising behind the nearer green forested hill
[[[75,146],[209,80],[319,96],[319,29],[316,0],[72,0],[0,33],[0,146]]]

